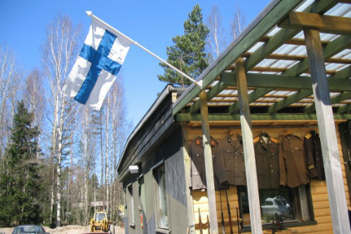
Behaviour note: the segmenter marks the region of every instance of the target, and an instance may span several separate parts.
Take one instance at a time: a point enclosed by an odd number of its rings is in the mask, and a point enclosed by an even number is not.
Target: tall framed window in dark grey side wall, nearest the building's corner
[[[166,176],[164,165],[154,169],[154,178],[157,182],[156,209],[159,228],[168,228],[168,208],[166,196]]]

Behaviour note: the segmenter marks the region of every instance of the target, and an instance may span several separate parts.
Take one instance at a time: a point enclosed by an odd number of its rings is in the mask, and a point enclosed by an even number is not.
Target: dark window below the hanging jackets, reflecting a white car
[[[238,186],[239,206],[243,217],[243,226],[249,226],[249,196],[246,186]],[[259,189],[261,219],[263,224],[271,224],[276,214],[284,222],[310,220],[309,186],[297,188]]]

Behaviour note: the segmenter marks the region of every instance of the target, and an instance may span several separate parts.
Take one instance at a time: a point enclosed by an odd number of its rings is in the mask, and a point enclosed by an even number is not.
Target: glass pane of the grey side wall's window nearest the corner
[[[159,219],[161,227],[168,227],[168,212],[166,200],[166,178],[164,167],[157,170],[157,181],[159,183]]]

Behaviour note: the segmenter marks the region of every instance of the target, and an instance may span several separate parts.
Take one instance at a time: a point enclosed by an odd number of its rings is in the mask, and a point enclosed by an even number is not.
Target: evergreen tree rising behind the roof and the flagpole
[[[208,67],[205,52],[208,33],[208,27],[204,25],[202,19],[201,8],[197,4],[184,22],[184,35],[173,37],[174,45],[167,46],[167,62],[194,79],[199,77]],[[164,74],[157,76],[159,80],[180,86],[189,86],[192,83],[166,64],[160,63],[160,65],[164,68]]]

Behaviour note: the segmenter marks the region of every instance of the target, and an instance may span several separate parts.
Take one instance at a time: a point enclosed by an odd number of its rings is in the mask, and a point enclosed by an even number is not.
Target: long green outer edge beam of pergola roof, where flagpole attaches
[[[266,13],[260,18],[257,18],[252,25],[250,25],[246,30],[246,34],[243,37],[238,37],[228,49],[224,56],[218,57],[218,59],[208,67],[208,71],[201,74],[200,79],[202,80],[201,89],[199,86],[191,85],[183,94],[183,98],[179,98],[173,105],[173,115],[176,115],[180,110],[182,110],[187,103],[199,95],[201,91],[206,89],[208,84],[211,84],[221,72],[223,72],[227,67],[232,65],[242,54],[249,50],[256,42],[263,37],[267,32],[269,32],[272,27],[277,25],[282,19],[289,14],[293,8],[296,8],[302,0],[281,0],[274,1],[272,4],[266,8]],[[244,31],[245,32],[245,31]]]

